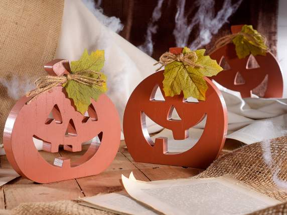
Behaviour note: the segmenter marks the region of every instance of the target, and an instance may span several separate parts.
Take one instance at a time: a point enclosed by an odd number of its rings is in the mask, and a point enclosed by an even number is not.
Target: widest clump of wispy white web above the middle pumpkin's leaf
[[[185,0],[178,0],[177,13],[175,17],[174,36],[177,47],[183,47],[188,44],[191,32],[195,26],[199,27],[197,38],[191,42],[188,47],[196,50],[208,44],[212,36],[217,34],[219,29],[228,22],[228,18],[236,12],[242,0],[238,0],[235,4],[231,4],[231,0],[225,0],[222,8],[217,14],[214,12],[214,0],[197,0],[195,7],[198,7],[193,19],[188,23],[188,17],[191,10],[185,13]]]

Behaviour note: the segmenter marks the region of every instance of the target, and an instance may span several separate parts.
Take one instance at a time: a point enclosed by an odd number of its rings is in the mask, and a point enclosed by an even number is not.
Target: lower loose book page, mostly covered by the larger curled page
[[[158,215],[162,214],[134,200],[126,192],[113,192],[103,195],[80,198],[84,206],[103,209],[119,214]]]

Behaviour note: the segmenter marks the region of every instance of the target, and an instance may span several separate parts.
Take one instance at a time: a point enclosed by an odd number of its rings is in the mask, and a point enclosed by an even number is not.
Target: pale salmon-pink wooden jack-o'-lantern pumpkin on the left
[[[50,75],[62,75],[68,61],[54,60],[46,65]],[[66,68],[65,68],[66,67]],[[120,121],[111,100],[102,94],[97,101],[91,99],[88,115],[77,112],[62,86],[43,93],[26,105],[22,97],[13,107],[4,131],[4,147],[13,168],[22,176],[39,183],[95,175],[102,172],[114,159],[120,142]],[[52,110],[54,118],[50,118]],[[43,140],[43,150],[77,152],[82,143],[91,142],[78,160],[59,157],[54,165],[48,163],[37,151],[33,137]]]

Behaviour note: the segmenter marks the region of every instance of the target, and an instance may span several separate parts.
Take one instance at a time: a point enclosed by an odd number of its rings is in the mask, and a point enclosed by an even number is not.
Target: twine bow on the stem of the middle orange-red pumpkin
[[[159,62],[154,64],[154,66],[157,64],[162,64],[162,66],[160,68],[158,68],[156,70],[156,72],[158,72],[164,66],[166,66],[172,62],[175,62],[175,61],[182,62],[184,65],[187,65],[187,66],[203,68],[201,65],[195,63],[197,61],[197,55],[193,51],[188,52],[185,55],[183,53],[175,55],[171,52],[166,52],[166,53],[162,54]]]

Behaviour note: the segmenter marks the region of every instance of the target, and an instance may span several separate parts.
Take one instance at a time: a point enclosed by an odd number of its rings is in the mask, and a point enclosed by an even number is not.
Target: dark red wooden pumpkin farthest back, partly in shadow
[[[232,34],[241,31],[242,25],[232,26]],[[215,59],[222,66],[223,61],[226,61],[230,68],[223,70],[213,79],[222,86],[238,91],[242,98],[250,97],[252,90],[259,86],[265,77],[267,78],[266,91],[263,94],[264,98],[277,97],[281,98],[283,93],[283,78],[276,58],[272,53],[267,52],[266,56],[254,56],[259,67],[248,68],[250,56],[244,59],[239,59],[236,55],[235,45],[230,43],[223,46],[210,54],[212,59]],[[244,81],[237,83],[238,76]]]

